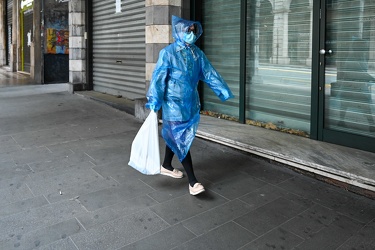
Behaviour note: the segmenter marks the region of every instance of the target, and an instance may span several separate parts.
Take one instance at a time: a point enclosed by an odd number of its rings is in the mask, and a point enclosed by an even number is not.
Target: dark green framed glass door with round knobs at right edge
[[[321,2],[319,138],[375,151],[375,3]]]

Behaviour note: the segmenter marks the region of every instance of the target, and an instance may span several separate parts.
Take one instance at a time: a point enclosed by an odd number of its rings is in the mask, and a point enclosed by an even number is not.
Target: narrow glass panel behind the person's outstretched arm
[[[202,1],[204,52],[235,95],[235,98],[221,102],[204,84],[202,105],[206,111],[235,118],[239,116],[240,2],[238,0]]]

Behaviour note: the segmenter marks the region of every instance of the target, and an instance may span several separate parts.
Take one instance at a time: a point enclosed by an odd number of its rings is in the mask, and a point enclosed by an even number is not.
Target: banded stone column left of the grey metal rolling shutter
[[[87,90],[85,0],[69,1],[69,91]]]

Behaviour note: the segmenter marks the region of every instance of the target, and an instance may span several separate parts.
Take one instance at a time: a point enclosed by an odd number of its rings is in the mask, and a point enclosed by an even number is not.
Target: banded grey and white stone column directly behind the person
[[[152,73],[159,58],[159,52],[173,42],[171,19],[172,15],[181,16],[182,0],[146,0],[146,87],[150,85]],[[146,98],[135,102],[135,117],[145,119],[147,110],[144,108]]]

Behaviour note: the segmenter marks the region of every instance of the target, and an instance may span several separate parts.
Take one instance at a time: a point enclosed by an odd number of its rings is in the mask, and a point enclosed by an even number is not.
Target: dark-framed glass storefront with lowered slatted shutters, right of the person
[[[236,98],[205,112],[375,152],[375,2],[192,1]]]

